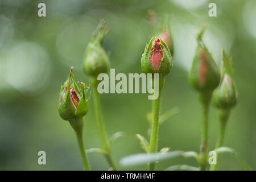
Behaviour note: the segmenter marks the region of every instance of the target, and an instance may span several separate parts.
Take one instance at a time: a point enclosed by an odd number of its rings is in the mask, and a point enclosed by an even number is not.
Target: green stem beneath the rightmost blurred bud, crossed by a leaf
[[[216,147],[220,148],[223,145],[223,140],[224,140],[224,136],[225,136],[225,129],[226,129],[226,123],[228,121],[229,118],[229,113],[230,113],[230,109],[221,109],[218,110],[218,117],[220,119],[220,131],[218,133],[218,139],[217,139],[217,143],[216,143]],[[210,165],[210,171],[216,171],[218,169],[218,165],[220,163],[220,155],[217,153],[216,156],[216,164],[212,164]]]

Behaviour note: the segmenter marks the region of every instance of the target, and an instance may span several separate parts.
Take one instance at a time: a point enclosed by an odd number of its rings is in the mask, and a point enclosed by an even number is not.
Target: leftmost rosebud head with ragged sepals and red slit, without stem
[[[85,98],[89,87],[80,82],[80,87],[77,86],[73,76],[73,68],[71,67],[67,81],[61,85],[59,98],[59,114],[60,117],[73,121],[76,118],[84,116],[88,111],[89,98]]]

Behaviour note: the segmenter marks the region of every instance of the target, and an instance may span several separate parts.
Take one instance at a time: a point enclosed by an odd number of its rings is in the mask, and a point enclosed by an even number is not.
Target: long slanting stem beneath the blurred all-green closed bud
[[[118,169],[117,164],[115,164],[114,159],[112,158],[108,135],[106,134],[105,125],[101,115],[100,94],[98,93],[98,90],[97,90],[98,81],[96,78],[92,77],[91,82],[93,86],[92,92],[93,92],[94,110],[96,114],[98,129],[100,131],[101,142],[104,147],[104,150],[108,151],[108,154],[106,155],[106,159],[108,160],[110,166],[112,166],[113,170],[116,171]]]

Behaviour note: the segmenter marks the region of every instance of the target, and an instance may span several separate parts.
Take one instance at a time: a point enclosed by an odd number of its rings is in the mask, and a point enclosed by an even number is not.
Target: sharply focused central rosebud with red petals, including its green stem
[[[155,76],[152,77],[152,82],[158,82],[159,96],[153,102],[153,121],[150,137],[149,152],[158,152],[158,128],[159,128],[159,105],[161,92],[164,85],[164,76],[168,75],[172,69],[172,56],[166,43],[159,38],[151,38],[150,42],[146,45],[144,53],[141,57],[141,68],[144,73],[158,73],[159,79]],[[155,163],[149,164],[150,170],[154,170]]]

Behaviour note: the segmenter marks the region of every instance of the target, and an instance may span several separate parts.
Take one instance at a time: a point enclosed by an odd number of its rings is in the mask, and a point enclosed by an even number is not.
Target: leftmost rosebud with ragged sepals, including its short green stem
[[[83,141],[82,129],[84,122],[82,117],[88,111],[88,101],[85,95],[89,88],[85,89],[85,84],[80,82],[81,89],[77,86],[75,78],[73,76],[73,68],[71,67],[68,79],[61,85],[60,98],[59,98],[59,114],[64,120],[69,121],[72,128],[75,130],[77,142],[84,163],[84,169],[90,170],[90,164],[85,152],[85,146]]]

